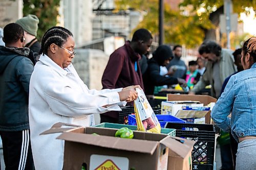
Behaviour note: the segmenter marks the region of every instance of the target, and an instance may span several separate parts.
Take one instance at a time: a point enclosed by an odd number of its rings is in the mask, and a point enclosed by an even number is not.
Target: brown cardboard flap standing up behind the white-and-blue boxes
[[[167,94],[167,101],[199,101],[204,106],[211,102],[216,102],[216,98],[209,95],[193,95],[193,94]]]

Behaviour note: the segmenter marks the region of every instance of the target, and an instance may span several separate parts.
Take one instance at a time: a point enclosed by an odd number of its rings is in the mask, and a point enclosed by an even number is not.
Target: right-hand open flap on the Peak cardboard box
[[[191,152],[196,143],[194,140],[171,136],[162,139],[160,142],[182,158],[185,158]]]

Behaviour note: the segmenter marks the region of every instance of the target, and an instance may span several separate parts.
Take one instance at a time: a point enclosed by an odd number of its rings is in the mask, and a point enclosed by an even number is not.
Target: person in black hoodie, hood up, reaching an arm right
[[[186,86],[186,81],[180,78],[160,75],[160,66],[166,66],[174,58],[172,49],[168,45],[160,45],[153,53],[153,58],[148,61],[148,66],[143,75],[143,83],[146,95],[153,95],[155,86],[180,84]],[[171,74],[168,72],[168,75]]]

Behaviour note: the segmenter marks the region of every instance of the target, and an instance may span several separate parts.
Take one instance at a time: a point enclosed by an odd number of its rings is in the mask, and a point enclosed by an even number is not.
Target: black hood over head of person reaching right
[[[168,45],[159,45],[157,50],[153,53],[153,58],[162,66],[165,60],[172,60],[174,54]]]

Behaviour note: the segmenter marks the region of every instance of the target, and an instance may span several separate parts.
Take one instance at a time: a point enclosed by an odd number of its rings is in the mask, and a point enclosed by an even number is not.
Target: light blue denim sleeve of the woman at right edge
[[[234,102],[234,76],[232,76],[221,97],[211,111],[211,118],[214,123],[224,131],[230,130],[231,119],[228,115],[231,112]]]

